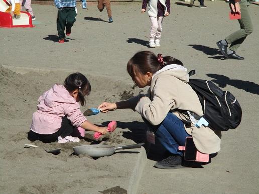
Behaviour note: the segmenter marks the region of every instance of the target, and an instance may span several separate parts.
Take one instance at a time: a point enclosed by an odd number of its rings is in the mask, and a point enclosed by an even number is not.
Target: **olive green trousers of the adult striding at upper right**
[[[225,38],[228,44],[231,44],[229,50],[236,51],[245,40],[246,36],[253,32],[252,21],[249,13],[249,8],[246,3],[240,2],[241,19],[238,20],[240,30],[232,33]]]

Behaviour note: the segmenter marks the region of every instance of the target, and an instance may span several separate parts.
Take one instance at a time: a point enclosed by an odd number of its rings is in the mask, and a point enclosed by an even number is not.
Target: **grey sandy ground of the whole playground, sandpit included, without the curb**
[[[72,147],[144,141],[146,126],[133,111],[89,117],[93,123],[103,125],[118,121],[116,131],[101,142],[93,141],[88,132],[79,143],[34,142],[40,146],[36,149],[26,149],[24,144],[30,143],[27,132],[38,97],[53,84],[62,83],[71,72],[84,73],[92,85],[82,110],[104,100],[117,101],[124,91],[128,95],[141,92],[133,88],[125,70],[128,59],[141,50],[178,58],[189,70],[196,69],[195,78],[211,79],[230,90],[242,106],[243,120],[238,129],[223,133],[221,151],[204,169],[163,171],[153,168],[155,161],[150,160],[139,193],[157,193],[157,188],[161,193],[258,193],[259,7],[250,6],[254,32],[238,50],[245,60],[236,61],[223,60],[215,44],[239,28],[236,21],[228,20],[227,4],[205,1],[207,9],[186,5],[183,1],[171,2],[161,47],[155,49],[147,46],[150,21],[147,14],[140,13],[138,2],[112,5],[113,24],[107,23],[105,10],[100,13],[96,6],[88,6],[88,10],[78,6],[77,21],[65,44],[57,43],[54,6],[33,5],[35,28],[0,29],[0,193],[127,192],[138,149],[93,160],[73,155]],[[59,155],[44,151],[58,147],[62,147]],[[171,186],[166,184],[167,177],[175,179]],[[195,188],[183,188],[186,179],[186,184]]]

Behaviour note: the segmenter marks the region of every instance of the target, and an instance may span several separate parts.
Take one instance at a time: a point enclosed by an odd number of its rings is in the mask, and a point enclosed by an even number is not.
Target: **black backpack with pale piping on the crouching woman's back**
[[[194,74],[195,70],[189,72],[189,76]],[[202,117],[209,123],[209,128],[227,131],[240,124],[241,106],[229,91],[222,91],[210,80],[190,79],[188,84],[199,97],[204,114]]]

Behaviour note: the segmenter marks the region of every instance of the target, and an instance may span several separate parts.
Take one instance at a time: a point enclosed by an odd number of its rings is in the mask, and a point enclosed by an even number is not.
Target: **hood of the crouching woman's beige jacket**
[[[163,67],[161,70],[157,71],[153,76],[152,79],[155,78],[158,74],[168,74],[172,75],[179,80],[183,81],[184,83],[189,82],[189,74],[187,69],[181,65],[170,64]]]

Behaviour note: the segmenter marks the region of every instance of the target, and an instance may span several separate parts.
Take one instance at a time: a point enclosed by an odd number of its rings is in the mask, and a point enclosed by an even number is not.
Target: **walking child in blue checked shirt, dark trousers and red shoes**
[[[66,35],[71,34],[71,28],[76,21],[76,0],[54,0],[54,4],[58,9],[57,30],[59,43],[65,42]],[[86,9],[86,0],[82,0],[82,8]]]

